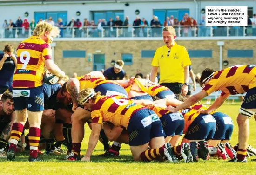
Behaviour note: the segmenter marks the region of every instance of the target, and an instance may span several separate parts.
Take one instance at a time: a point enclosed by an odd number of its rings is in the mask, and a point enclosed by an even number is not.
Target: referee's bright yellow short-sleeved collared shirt
[[[184,82],[184,67],[191,65],[189,54],[186,48],[182,45],[171,47],[168,56],[169,48],[164,45],[155,51],[152,60],[152,66],[160,68],[160,81],[159,83],[185,83]]]

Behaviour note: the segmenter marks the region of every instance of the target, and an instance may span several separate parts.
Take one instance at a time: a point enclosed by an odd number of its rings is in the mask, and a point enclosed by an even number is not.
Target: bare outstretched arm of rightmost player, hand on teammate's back
[[[206,91],[200,91],[197,94],[189,97],[185,102],[183,102],[181,105],[177,106],[176,108],[174,108],[172,106],[168,106],[166,109],[169,110],[170,112],[177,112],[179,110],[189,108],[190,106],[199,102],[206,96],[208,96]]]

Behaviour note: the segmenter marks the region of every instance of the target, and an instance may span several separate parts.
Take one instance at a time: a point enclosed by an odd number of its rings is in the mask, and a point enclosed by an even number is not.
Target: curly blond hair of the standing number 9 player
[[[54,31],[54,37],[57,37],[60,35],[60,30],[58,27],[54,27],[52,26],[50,23],[45,22],[45,21],[40,21],[34,31],[33,31],[33,35],[34,36],[42,36],[45,32],[51,32]]]

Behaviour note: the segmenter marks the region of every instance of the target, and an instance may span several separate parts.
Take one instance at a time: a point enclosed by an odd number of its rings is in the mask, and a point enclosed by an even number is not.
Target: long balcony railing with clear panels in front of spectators
[[[87,26],[62,27],[60,38],[108,38],[108,37],[162,37],[164,26]],[[177,37],[246,37],[256,36],[255,26],[247,27],[206,27],[174,26]],[[0,38],[27,38],[33,29],[22,27],[0,29]]]

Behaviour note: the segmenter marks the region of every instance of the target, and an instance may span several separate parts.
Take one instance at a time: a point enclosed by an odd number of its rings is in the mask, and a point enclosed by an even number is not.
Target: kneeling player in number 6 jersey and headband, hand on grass
[[[135,161],[151,161],[157,156],[166,156],[171,162],[177,162],[170,143],[164,143],[164,131],[157,115],[144,106],[135,104],[123,96],[101,96],[92,88],[79,93],[79,103],[92,114],[92,132],[88,149],[82,161],[90,161],[97,144],[101,124],[109,121],[115,126],[126,128],[129,133],[129,145]],[[150,145],[151,149],[148,149]]]

